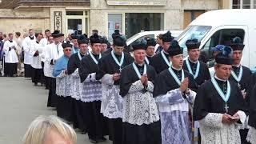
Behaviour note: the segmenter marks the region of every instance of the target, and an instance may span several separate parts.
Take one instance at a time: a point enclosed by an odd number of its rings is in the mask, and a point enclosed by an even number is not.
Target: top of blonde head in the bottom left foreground
[[[74,130],[58,117],[39,116],[29,126],[23,144],[76,144]]]

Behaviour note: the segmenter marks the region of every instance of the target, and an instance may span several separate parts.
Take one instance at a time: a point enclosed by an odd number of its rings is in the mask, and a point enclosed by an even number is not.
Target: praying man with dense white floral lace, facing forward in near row
[[[145,62],[146,40],[133,45],[135,61],[122,69],[122,144],[160,144],[160,122],[153,98],[156,73]]]

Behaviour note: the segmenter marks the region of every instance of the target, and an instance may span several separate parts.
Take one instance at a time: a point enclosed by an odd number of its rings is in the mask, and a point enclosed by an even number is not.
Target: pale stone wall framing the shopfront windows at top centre
[[[133,1],[133,0],[130,0]],[[216,10],[218,0],[158,0],[166,6],[108,6],[106,0],[90,1],[90,30],[108,33],[108,14],[164,13],[164,30],[182,30],[184,10]]]

